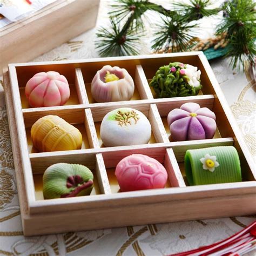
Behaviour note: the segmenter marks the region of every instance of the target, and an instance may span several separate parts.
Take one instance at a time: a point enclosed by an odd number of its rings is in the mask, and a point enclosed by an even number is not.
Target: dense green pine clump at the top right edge
[[[245,62],[254,63],[256,54],[256,12],[253,0],[233,0],[224,3],[224,21],[217,35],[226,33],[228,41],[226,57],[231,57],[232,68]]]

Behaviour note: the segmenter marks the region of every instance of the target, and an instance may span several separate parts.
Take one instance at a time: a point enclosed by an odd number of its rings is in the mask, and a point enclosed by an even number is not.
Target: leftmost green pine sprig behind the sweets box
[[[143,36],[144,25],[142,15],[147,10],[147,1],[117,0],[113,11],[109,12],[111,27],[99,29],[96,36],[100,56],[138,55],[139,37]],[[126,19],[123,28],[121,20]]]

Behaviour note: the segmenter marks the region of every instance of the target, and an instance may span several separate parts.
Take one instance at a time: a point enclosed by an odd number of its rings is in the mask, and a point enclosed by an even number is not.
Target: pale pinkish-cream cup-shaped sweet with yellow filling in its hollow
[[[130,100],[134,93],[134,82],[126,69],[106,65],[93,77],[91,93],[96,102]]]

